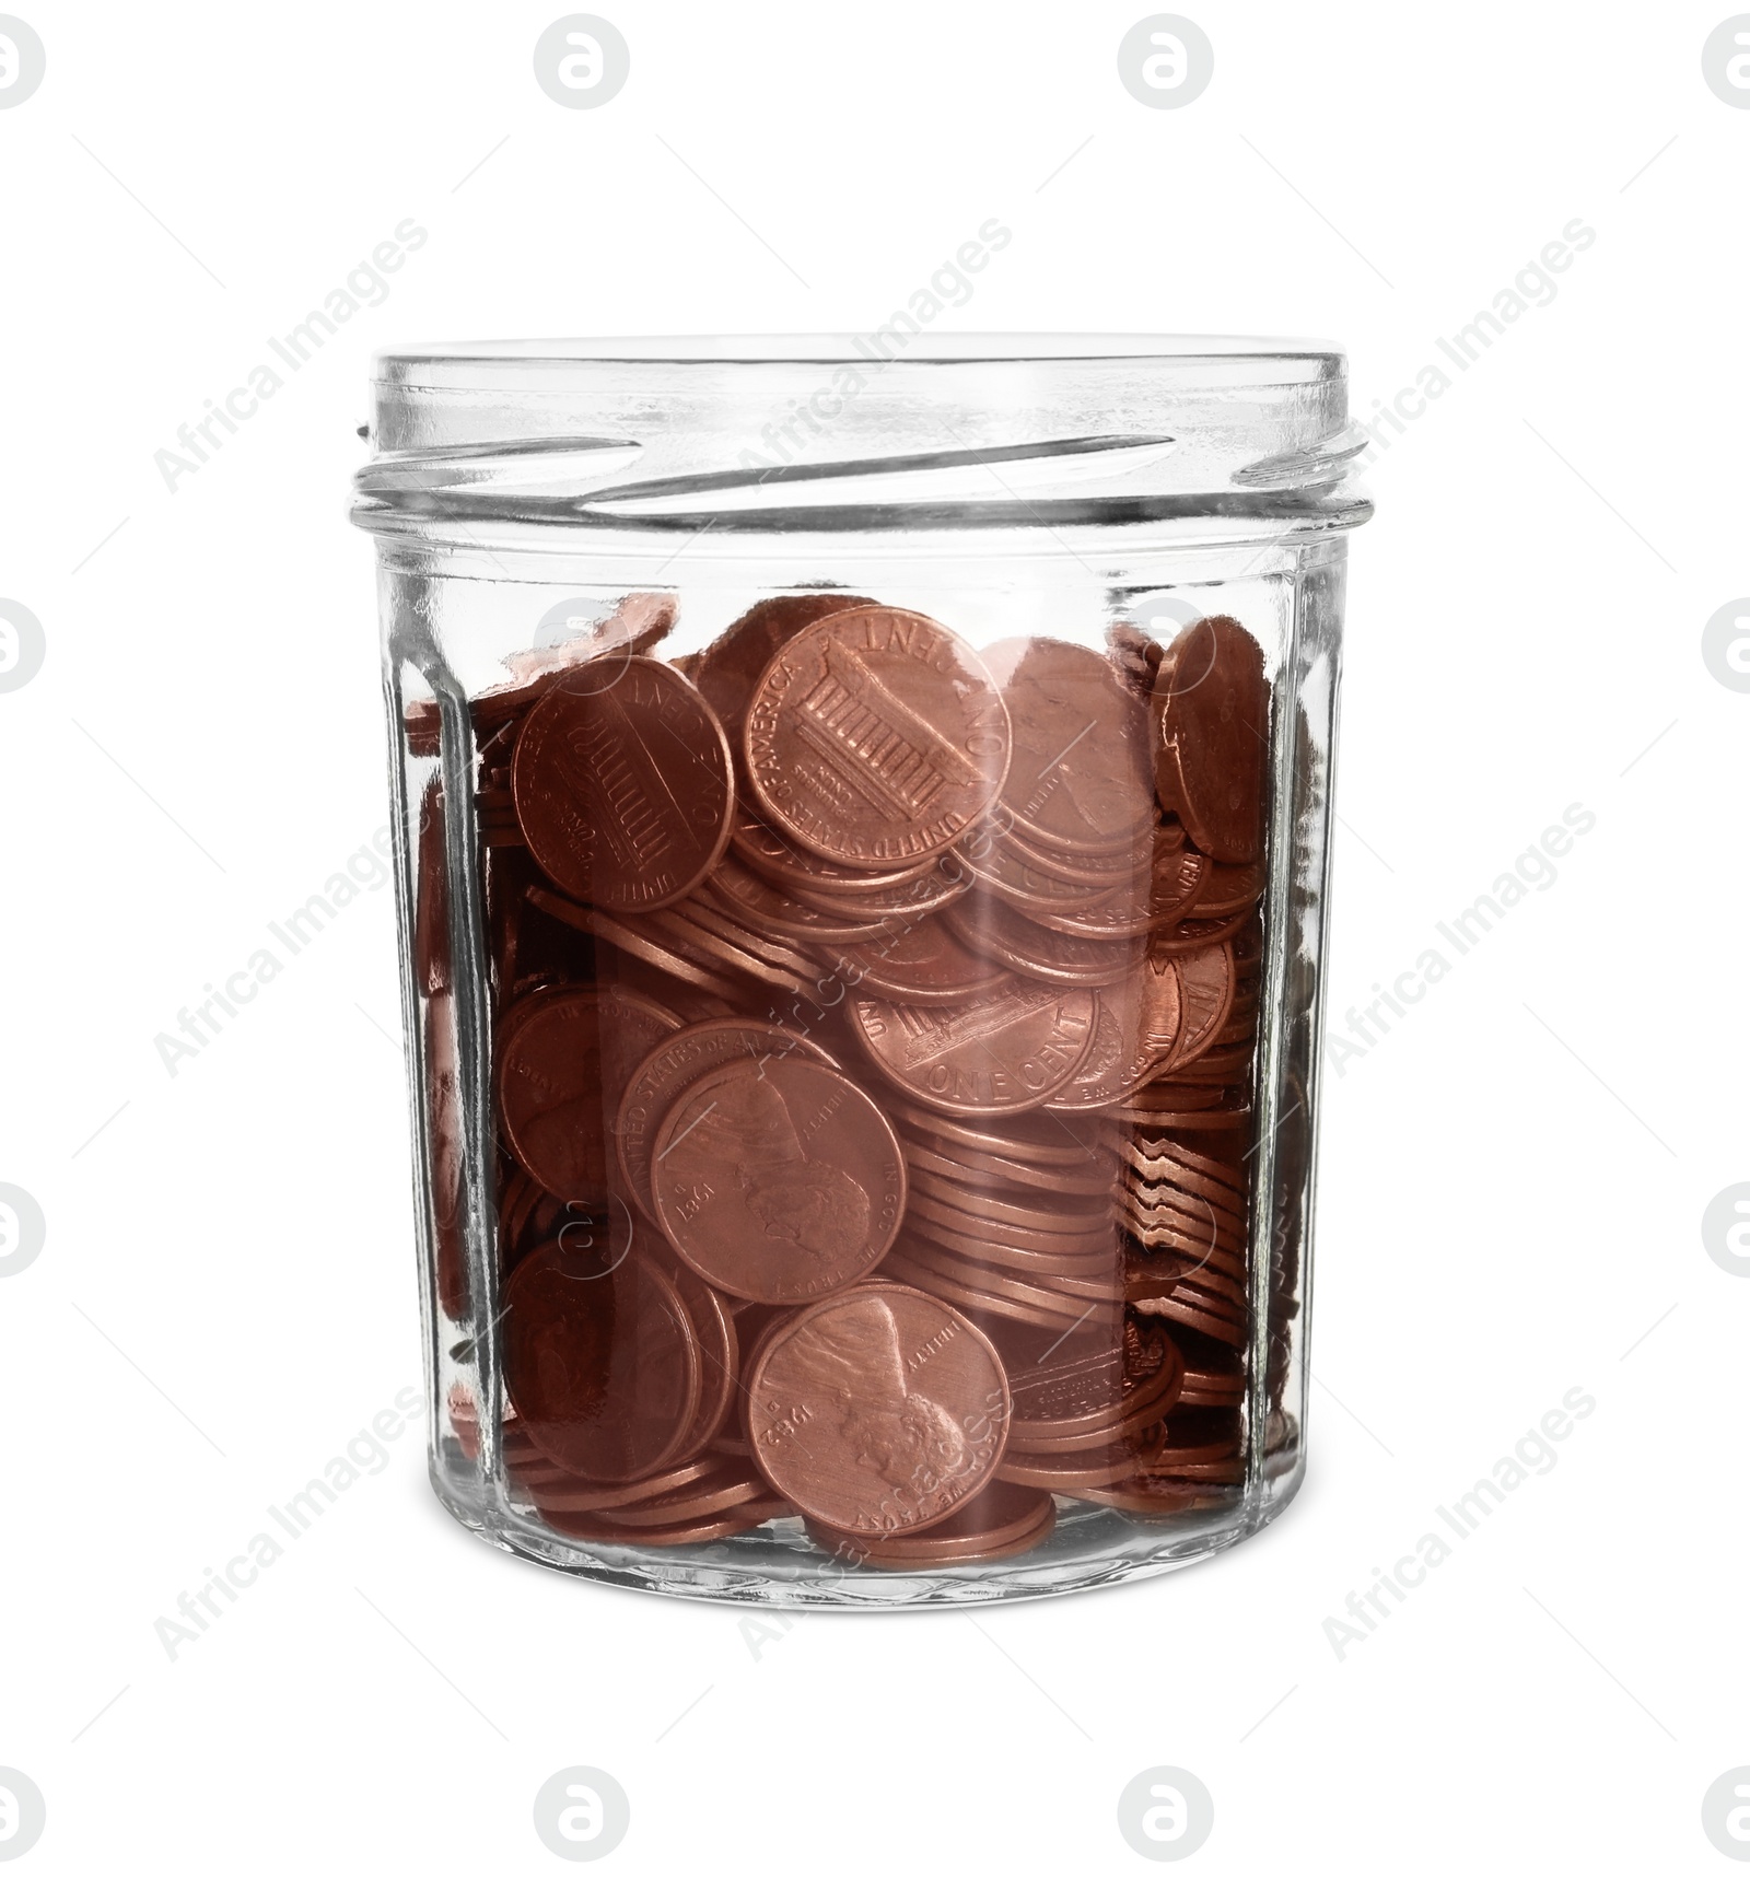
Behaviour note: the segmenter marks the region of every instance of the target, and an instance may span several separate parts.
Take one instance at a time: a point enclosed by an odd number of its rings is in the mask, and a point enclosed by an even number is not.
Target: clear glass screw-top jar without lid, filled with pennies
[[[1339,351],[385,353],[430,1470],[507,1551],[914,1606],[1305,1465]]]

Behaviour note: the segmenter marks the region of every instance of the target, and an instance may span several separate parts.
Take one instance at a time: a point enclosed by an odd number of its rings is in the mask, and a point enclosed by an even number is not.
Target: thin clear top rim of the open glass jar
[[[445,376],[466,366],[590,366],[590,364],[864,364],[883,353],[888,366],[943,364],[1076,364],[1130,361],[1134,364],[1194,366],[1247,362],[1290,379],[1341,372],[1344,351],[1329,340],[1232,336],[1211,332],[929,332],[899,331],[903,349],[888,353],[883,334],[892,316],[869,332],[727,332],[655,334],[552,340],[432,342],[392,346],[374,359],[377,381],[417,383],[422,370]],[[909,316],[907,316],[909,317]],[[1249,374],[1251,376],[1251,374]]]

